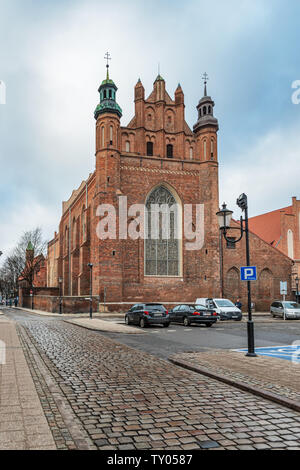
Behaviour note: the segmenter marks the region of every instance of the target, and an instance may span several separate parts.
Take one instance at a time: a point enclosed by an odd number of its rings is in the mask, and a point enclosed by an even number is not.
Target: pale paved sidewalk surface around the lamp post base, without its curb
[[[299,364],[266,356],[258,356],[253,360],[234,351],[184,353],[172,358],[300,403]]]

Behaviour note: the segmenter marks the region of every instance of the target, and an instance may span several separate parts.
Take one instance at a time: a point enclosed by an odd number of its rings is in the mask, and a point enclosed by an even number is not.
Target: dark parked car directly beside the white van
[[[192,323],[202,323],[210,327],[219,319],[215,310],[206,308],[203,305],[177,305],[170,310],[169,314],[171,322],[183,323],[184,326],[189,326]]]

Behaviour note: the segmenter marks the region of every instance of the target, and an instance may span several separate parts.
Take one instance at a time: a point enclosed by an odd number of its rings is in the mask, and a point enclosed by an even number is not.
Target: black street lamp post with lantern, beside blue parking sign
[[[238,243],[244,236],[246,237],[246,262],[247,266],[250,266],[250,248],[249,248],[249,226],[248,226],[248,199],[246,194],[241,194],[237,200],[237,205],[242,212],[245,212],[245,220],[243,217],[240,218],[240,227],[230,227],[230,222],[233,212],[227,209],[226,204],[223,204],[222,210],[217,212],[218,222],[220,230],[227,242]],[[237,240],[227,238],[228,230],[240,230],[241,235]],[[252,320],[252,307],[251,307],[251,281],[247,281],[248,289],[248,321],[247,321],[247,336],[248,336],[248,353],[246,356],[257,357],[255,354],[254,347],[254,323]]]

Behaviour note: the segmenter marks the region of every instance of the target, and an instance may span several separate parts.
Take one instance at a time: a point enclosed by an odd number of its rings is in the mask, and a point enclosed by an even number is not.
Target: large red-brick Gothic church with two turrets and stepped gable
[[[220,296],[240,297],[246,306],[246,286],[239,280],[239,268],[245,264],[244,241],[226,244],[217,223],[219,124],[206,80],[192,129],[185,121],[181,86],[171,98],[160,75],[147,98],[138,80],[135,115],[127,126],[120,123],[117,86],[108,66],[98,91],[95,171],[62,204],[59,231],[48,245],[48,288],[61,286],[66,311],[86,311],[80,300],[89,295],[91,286],[95,308],[104,301],[112,309],[125,310],[127,304],[140,301],[174,304]],[[161,237],[120,239],[118,234],[116,239],[99,239],[97,208],[101,204],[118,208],[121,196],[127,196],[128,206],[147,206],[150,201],[204,205],[204,245],[189,251],[184,235],[169,243]],[[117,212],[117,226],[118,219]],[[180,214],[175,222],[183,225]],[[280,281],[290,286],[293,261],[254,233],[250,243],[251,262],[259,273],[253,298],[257,308],[266,309],[279,296]],[[40,308],[43,305],[41,300]]]

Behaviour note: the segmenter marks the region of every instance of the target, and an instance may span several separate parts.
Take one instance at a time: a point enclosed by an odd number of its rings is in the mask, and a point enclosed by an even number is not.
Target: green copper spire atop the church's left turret
[[[122,109],[116,102],[116,92],[118,88],[116,87],[113,80],[109,78],[109,63],[111,60],[109,53],[105,54],[105,59],[107,60],[106,64],[106,79],[101,83],[98,91],[100,93],[100,103],[98,104],[94,116],[95,119],[98,119],[100,114],[104,113],[115,113],[119,116],[122,116]]]

